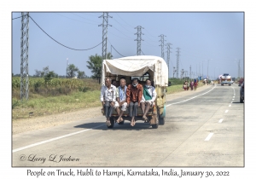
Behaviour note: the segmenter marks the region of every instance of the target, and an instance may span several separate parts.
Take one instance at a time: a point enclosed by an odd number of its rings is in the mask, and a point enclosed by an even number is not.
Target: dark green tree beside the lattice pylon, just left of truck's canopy
[[[108,52],[107,59],[112,59],[113,55]],[[102,56],[100,55],[90,55],[89,61],[87,61],[88,65],[87,67],[92,72],[91,78],[95,78],[99,80],[99,83],[101,81],[102,77]]]

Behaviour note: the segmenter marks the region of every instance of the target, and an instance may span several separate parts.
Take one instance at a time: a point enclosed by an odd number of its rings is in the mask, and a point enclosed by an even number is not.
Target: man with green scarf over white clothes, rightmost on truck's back
[[[145,123],[148,123],[148,118],[146,115],[148,113],[149,107],[154,106],[155,98],[156,98],[156,91],[154,89],[154,86],[151,85],[151,80],[148,78],[146,79],[146,84],[143,86],[143,98],[141,101],[143,119]]]

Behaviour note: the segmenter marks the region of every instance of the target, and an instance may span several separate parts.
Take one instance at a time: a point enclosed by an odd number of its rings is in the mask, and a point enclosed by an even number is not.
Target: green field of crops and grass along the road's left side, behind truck
[[[180,80],[181,81],[181,80]],[[167,87],[167,95],[183,91],[180,82]],[[91,78],[29,79],[29,100],[20,101],[20,78],[12,79],[12,118],[29,118],[68,113],[88,107],[101,107],[101,85]]]

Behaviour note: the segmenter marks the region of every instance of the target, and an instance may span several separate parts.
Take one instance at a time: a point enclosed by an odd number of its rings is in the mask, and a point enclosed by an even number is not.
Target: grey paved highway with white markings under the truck
[[[100,113],[100,112],[99,112]],[[166,124],[108,129],[90,118],[13,136],[13,166],[243,166],[239,87],[209,86],[167,102]]]

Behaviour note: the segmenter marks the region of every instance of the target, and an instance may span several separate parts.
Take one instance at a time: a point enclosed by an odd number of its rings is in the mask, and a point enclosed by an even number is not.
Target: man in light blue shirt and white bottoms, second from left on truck
[[[116,97],[116,101],[115,101],[115,105],[114,107],[117,110],[117,113],[119,114],[119,118],[117,119],[117,123],[123,122],[124,119],[122,118],[122,115],[125,113],[126,111],[126,107],[127,107],[127,102],[126,102],[126,90],[127,90],[127,86],[126,86],[126,82],[124,78],[121,78],[119,80],[119,84],[120,86],[117,88],[117,97]],[[119,107],[121,108],[121,112],[119,112]]]

